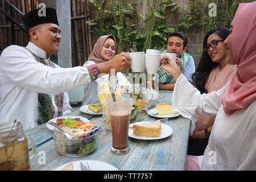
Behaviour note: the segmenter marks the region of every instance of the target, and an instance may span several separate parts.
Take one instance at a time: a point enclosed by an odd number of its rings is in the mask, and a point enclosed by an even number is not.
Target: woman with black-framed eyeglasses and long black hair
[[[224,40],[229,29],[218,27],[205,35],[204,52],[192,75],[193,85],[203,93],[216,91],[228,83],[236,73],[236,65],[228,64]],[[197,114],[196,129],[188,142],[188,155],[203,155],[210,137],[215,116]]]

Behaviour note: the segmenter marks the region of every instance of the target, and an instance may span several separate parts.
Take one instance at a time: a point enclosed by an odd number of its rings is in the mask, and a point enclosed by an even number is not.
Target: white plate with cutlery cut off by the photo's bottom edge
[[[105,163],[100,160],[76,160],[70,162],[73,163],[73,171],[81,171],[80,162],[87,162],[91,171],[118,171],[118,168],[114,167],[112,164]],[[63,169],[68,164],[69,163],[63,164],[62,166],[53,169],[53,171],[60,171],[60,169]]]

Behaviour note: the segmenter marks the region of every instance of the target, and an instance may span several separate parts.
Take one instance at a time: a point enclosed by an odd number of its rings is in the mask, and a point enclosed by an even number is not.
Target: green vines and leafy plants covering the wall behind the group
[[[137,46],[137,51],[148,48],[158,49],[166,46],[170,32],[181,31],[184,34],[196,26],[201,31],[201,43],[204,35],[215,27],[229,27],[239,3],[253,0],[190,0],[192,13],[182,13],[176,26],[168,24],[168,16],[176,12],[177,2],[171,0],[90,0],[99,11],[98,18],[89,23],[95,24],[92,32],[97,35],[112,34],[117,39],[117,53],[129,51]],[[146,3],[146,14],[138,14],[137,5]],[[217,16],[209,16],[209,3],[217,6]],[[184,7],[183,7],[184,9]],[[202,44],[203,46],[203,44]]]

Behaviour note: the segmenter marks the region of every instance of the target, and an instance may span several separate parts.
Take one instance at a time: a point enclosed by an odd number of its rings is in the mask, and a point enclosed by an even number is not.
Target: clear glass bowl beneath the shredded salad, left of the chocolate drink
[[[53,139],[56,151],[69,157],[80,157],[94,152],[99,143],[99,130],[85,138],[67,139],[64,134],[55,133]]]

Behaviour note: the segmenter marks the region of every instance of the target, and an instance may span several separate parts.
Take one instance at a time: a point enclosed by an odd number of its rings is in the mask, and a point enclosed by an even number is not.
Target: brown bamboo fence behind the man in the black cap
[[[38,9],[40,0],[9,0],[23,14]],[[71,40],[72,40],[72,67],[82,66],[87,61],[92,51],[92,37],[90,26],[86,21],[90,20],[90,9],[88,0],[71,1]],[[10,13],[10,6],[4,0],[0,0],[0,7]],[[22,15],[14,12],[14,18],[23,25]],[[27,46],[28,35],[19,27],[15,26],[15,43],[19,46]],[[7,21],[4,14],[0,13],[0,46],[6,48],[13,44],[11,35],[11,23]]]

